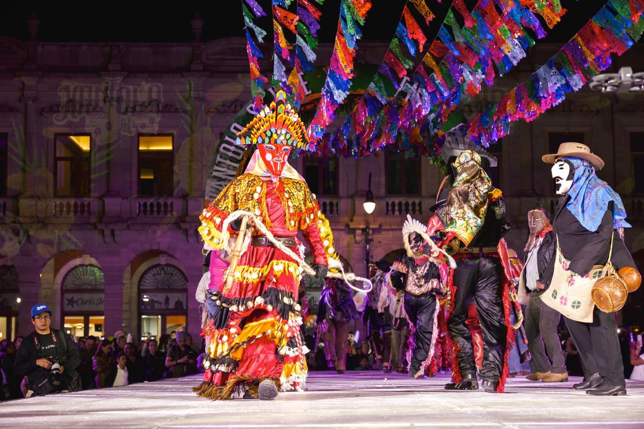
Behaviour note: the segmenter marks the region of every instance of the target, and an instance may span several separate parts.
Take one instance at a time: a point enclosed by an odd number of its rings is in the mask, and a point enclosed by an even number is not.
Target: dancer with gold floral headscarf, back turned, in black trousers
[[[515,341],[510,321],[515,303],[510,298],[513,276],[507,245],[502,240],[510,221],[502,193],[492,186],[485,171],[497,161],[471,142],[448,142],[441,153],[455,178],[446,202],[435,211],[443,237],[439,246],[453,254],[457,263],[448,276],[448,328],[454,362],[453,383],[445,388],[478,389],[472,338],[466,323],[473,298],[484,347],[481,385],[486,392],[504,392],[509,348]]]

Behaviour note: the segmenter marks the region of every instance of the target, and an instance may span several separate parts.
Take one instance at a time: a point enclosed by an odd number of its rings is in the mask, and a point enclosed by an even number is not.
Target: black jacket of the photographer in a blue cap
[[[40,347],[35,344],[34,334],[37,336]],[[52,334],[56,336],[57,343],[53,341]],[[64,341],[64,344],[62,344],[62,341]],[[52,343],[54,344],[53,347],[51,347]],[[52,363],[57,359],[61,364],[63,368],[62,386],[70,385],[70,381],[77,376],[76,368],[81,363],[81,356],[73,339],[62,329],[51,329],[50,334],[44,335],[36,334],[34,331],[23,339],[17,350],[14,364],[15,373],[26,375],[32,390],[33,386],[41,385],[44,379],[49,377],[50,370],[36,365],[36,361],[43,357],[46,357]]]

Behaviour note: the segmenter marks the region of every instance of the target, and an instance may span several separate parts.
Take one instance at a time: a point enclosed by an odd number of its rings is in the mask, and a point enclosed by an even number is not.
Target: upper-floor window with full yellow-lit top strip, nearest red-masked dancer
[[[171,135],[138,136],[138,195],[171,196],[175,159]]]

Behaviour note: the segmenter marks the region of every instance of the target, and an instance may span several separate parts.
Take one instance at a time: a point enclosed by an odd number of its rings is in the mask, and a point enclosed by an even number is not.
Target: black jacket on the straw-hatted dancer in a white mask
[[[622,267],[636,268],[620,234],[613,229],[612,202],[609,203],[608,209],[603,214],[597,231],[591,232],[585,229],[573,213],[565,207],[569,198],[568,195],[564,195],[559,199],[554,214],[553,230],[564,258],[570,261],[570,270],[580,276],[585,276],[594,265],[605,265],[611,248],[611,237],[613,237],[611,257],[613,267],[616,270]],[[553,278],[554,260],[555,258],[551,258],[544,273],[548,285]]]

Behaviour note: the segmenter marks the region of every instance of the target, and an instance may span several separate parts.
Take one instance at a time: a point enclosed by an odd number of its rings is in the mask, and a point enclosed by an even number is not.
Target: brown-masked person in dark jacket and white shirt
[[[524,249],[526,260],[519,278],[518,297],[519,302],[526,305],[524,327],[535,372],[526,378],[544,383],[568,381],[557,333],[561,314],[541,300],[547,283],[545,269],[554,257],[556,238],[548,213],[541,205],[528,212],[527,223],[530,235]]]

